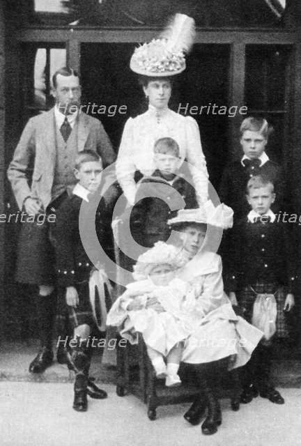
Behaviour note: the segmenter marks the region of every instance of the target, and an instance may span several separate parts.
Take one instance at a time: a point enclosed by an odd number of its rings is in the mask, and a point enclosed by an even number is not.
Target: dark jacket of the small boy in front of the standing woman
[[[170,185],[159,170],[142,178],[135,199],[137,204],[131,211],[130,229],[134,240],[146,247],[169,238],[171,229],[167,220],[175,217],[179,209],[199,207],[194,187],[184,176],[176,176]]]

